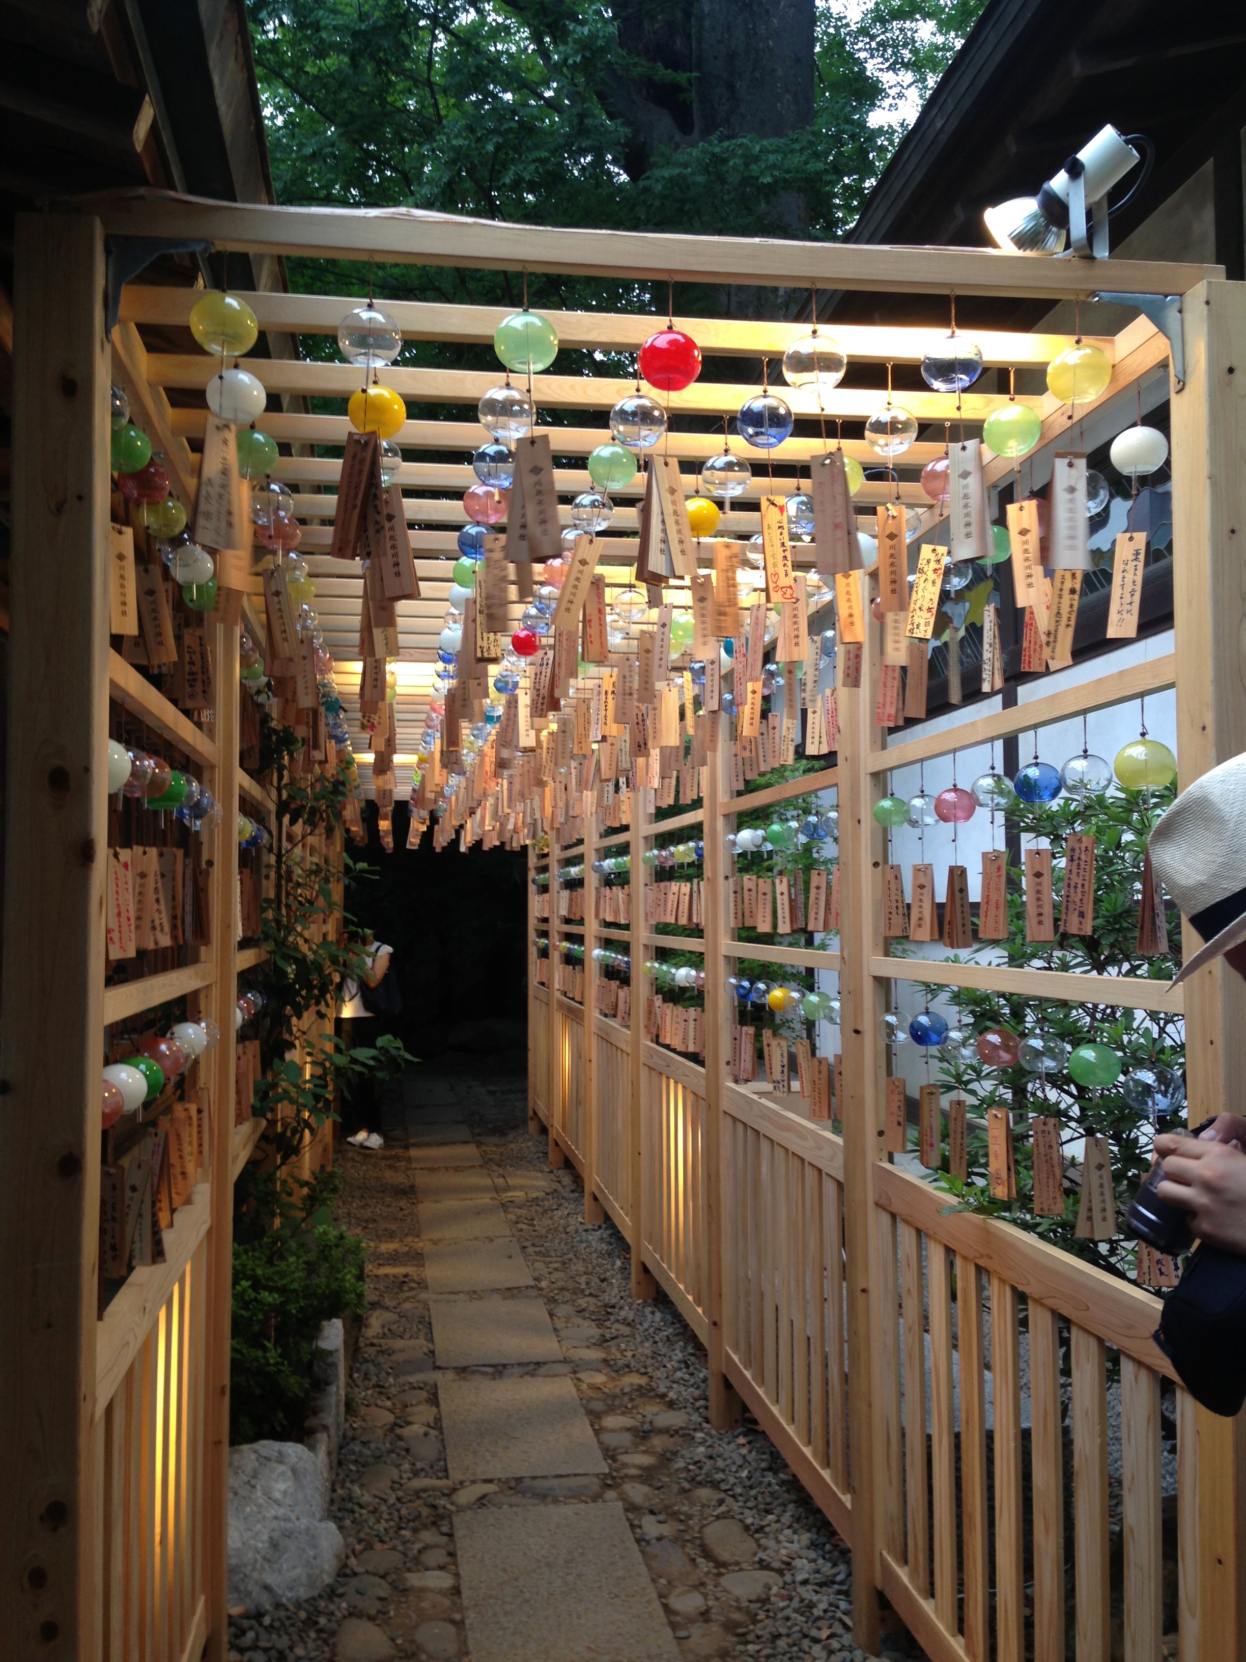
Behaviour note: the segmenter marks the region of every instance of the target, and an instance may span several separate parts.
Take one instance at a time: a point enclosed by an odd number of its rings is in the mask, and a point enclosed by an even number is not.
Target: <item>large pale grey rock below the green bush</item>
[[[262,1610],[331,1582],[346,1546],[327,1511],[327,1473],[302,1443],[229,1449],[229,1604]]]

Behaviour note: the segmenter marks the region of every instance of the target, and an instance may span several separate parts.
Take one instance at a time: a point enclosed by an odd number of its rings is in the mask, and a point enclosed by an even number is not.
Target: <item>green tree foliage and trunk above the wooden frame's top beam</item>
[[[249,0],[249,13],[281,201],[832,238],[982,3],[774,0],[796,35],[809,25],[809,57],[744,0]],[[317,263],[297,283],[349,293],[344,276]],[[385,269],[382,293],[520,301],[513,274],[455,268]],[[665,301],[591,278],[533,278],[532,297]]]

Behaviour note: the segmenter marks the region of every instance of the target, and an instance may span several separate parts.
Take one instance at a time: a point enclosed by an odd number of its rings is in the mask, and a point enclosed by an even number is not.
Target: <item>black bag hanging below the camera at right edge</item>
[[[1246,1401],[1246,1258],[1199,1246],[1165,1298],[1155,1343],[1213,1414]]]

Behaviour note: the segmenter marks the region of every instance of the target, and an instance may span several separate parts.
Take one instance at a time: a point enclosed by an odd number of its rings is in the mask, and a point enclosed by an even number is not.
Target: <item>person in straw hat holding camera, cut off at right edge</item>
[[[1203,937],[1173,986],[1216,957],[1246,979],[1246,753],[1194,779],[1150,838],[1151,869]],[[1244,1082],[1246,1084],[1246,1082]],[[1216,1414],[1246,1403],[1246,1115],[1198,1135],[1163,1135],[1161,1202],[1190,1218],[1198,1246],[1165,1298],[1156,1345]]]

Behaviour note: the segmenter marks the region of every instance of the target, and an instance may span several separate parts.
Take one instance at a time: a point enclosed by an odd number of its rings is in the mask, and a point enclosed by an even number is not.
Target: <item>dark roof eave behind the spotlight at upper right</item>
[[[1145,133],[1156,146],[1155,173],[1113,219],[1113,244],[1214,161],[1214,258],[1228,276],[1246,278],[1243,0],[1196,7],[992,0],[869,196],[851,239],[988,246],[984,208],[1035,194],[1106,121],[1121,133]],[[1173,249],[1171,258],[1190,256]],[[887,316],[887,304],[885,297],[844,296],[834,314]],[[892,307],[892,316],[912,317],[912,302]],[[1018,307],[1015,321],[1025,314]]]

